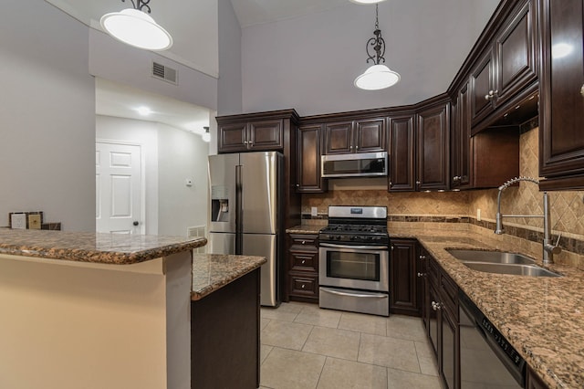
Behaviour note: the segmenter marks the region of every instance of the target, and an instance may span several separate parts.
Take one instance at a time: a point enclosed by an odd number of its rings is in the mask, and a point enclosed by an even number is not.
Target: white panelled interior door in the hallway
[[[96,142],[96,231],[140,234],[141,147]]]

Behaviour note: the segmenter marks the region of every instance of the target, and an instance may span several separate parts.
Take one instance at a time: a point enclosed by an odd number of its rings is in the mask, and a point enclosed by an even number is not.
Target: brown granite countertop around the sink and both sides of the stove
[[[446,248],[522,250],[488,230],[445,225],[390,226],[390,234],[418,239],[550,388],[584,388],[584,271],[552,265],[547,268],[564,277],[536,278],[472,270]],[[318,229],[295,226],[287,232]],[[535,259],[541,266],[541,255]]]

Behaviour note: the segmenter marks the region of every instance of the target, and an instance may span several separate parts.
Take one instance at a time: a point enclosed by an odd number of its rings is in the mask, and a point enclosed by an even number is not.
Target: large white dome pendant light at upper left
[[[151,13],[150,5],[148,5],[150,0],[130,1],[133,8],[101,16],[99,20],[101,27],[111,37],[133,47],[153,51],[162,51],[171,47],[171,35],[148,15]]]

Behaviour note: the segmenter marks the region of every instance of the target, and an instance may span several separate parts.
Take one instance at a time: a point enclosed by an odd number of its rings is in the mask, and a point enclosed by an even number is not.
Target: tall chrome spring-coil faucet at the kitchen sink
[[[539,181],[535,178],[531,177],[516,177],[505,184],[499,186],[499,195],[496,198],[496,227],[495,227],[495,234],[501,235],[505,232],[503,229],[503,217],[543,217],[544,219],[544,240],[542,242],[543,246],[543,264],[544,266],[553,263],[554,261],[554,254],[559,254],[562,249],[558,246],[559,238],[561,234],[558,235],[558,242],[554,245],[551,241],[551,226],[550,226],[550,216],[549,216],[549,197],[547,192],[544,192],[544,215],[501,215],[501,194],[503,191],[506,190],[510,185],[516,184],[519,181],[525,181],[528,183],[539,184]]]

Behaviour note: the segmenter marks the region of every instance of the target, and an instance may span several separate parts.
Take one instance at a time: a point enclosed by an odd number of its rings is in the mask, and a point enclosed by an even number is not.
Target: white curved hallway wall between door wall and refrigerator
[[[186,236],[187,227],[206,225],[207,155],[200,136],[158,124],[159,235]]]

